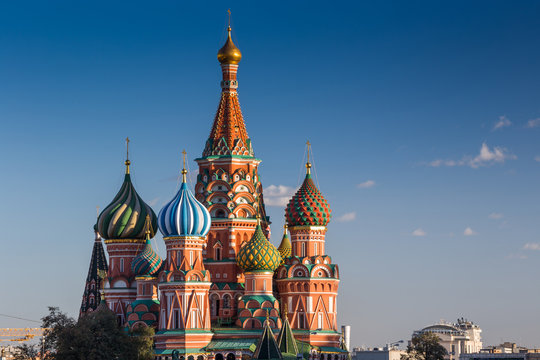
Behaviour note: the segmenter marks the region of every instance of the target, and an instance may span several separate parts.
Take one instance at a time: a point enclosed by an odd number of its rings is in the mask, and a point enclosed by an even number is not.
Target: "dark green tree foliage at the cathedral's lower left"
[[[47,360],[150,360],[153,359],[153,329],[133,332],[118,326],[116,315],[101,308],[78,322],[49,308],[43,326]]]

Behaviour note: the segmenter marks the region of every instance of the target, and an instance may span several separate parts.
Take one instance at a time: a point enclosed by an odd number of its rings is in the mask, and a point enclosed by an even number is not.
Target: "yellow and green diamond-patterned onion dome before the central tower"
[[[238,252],[236,263],[244,271],[274,271],[281,264],[278,249],[264,236],[257,219],[255,233]]]

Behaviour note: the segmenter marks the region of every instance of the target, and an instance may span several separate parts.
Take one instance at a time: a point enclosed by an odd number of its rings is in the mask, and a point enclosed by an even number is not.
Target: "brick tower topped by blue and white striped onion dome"
[[[210,230],[210,213],[186,183],[185,152],[182,185],[158,216],[167,249],[165,268],[159,274],[161,312],[156,333],[156,354],[174,349],[202,354],[210,343],[210,272],[203,264],[203,249]]]

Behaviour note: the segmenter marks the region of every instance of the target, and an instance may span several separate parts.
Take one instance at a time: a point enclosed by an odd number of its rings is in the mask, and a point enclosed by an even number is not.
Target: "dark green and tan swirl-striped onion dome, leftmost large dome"
[[[145,239],[144,223],[146,216],[152,219],[152,229],[156,228],[157,217],[135,191],[131,177],[126,174],[124,183],[114,200],[99,214],[97,230],[106,240]],[[150,237],[154,237],[152,231]]]

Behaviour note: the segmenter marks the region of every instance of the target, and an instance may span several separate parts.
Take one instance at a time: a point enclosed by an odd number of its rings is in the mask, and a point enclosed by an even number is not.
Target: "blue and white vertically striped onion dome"
[[[206,236],[210,230],[211,217],[182,182],[176,196],[161,209],[158,216],[159,230],[164,237]]]

